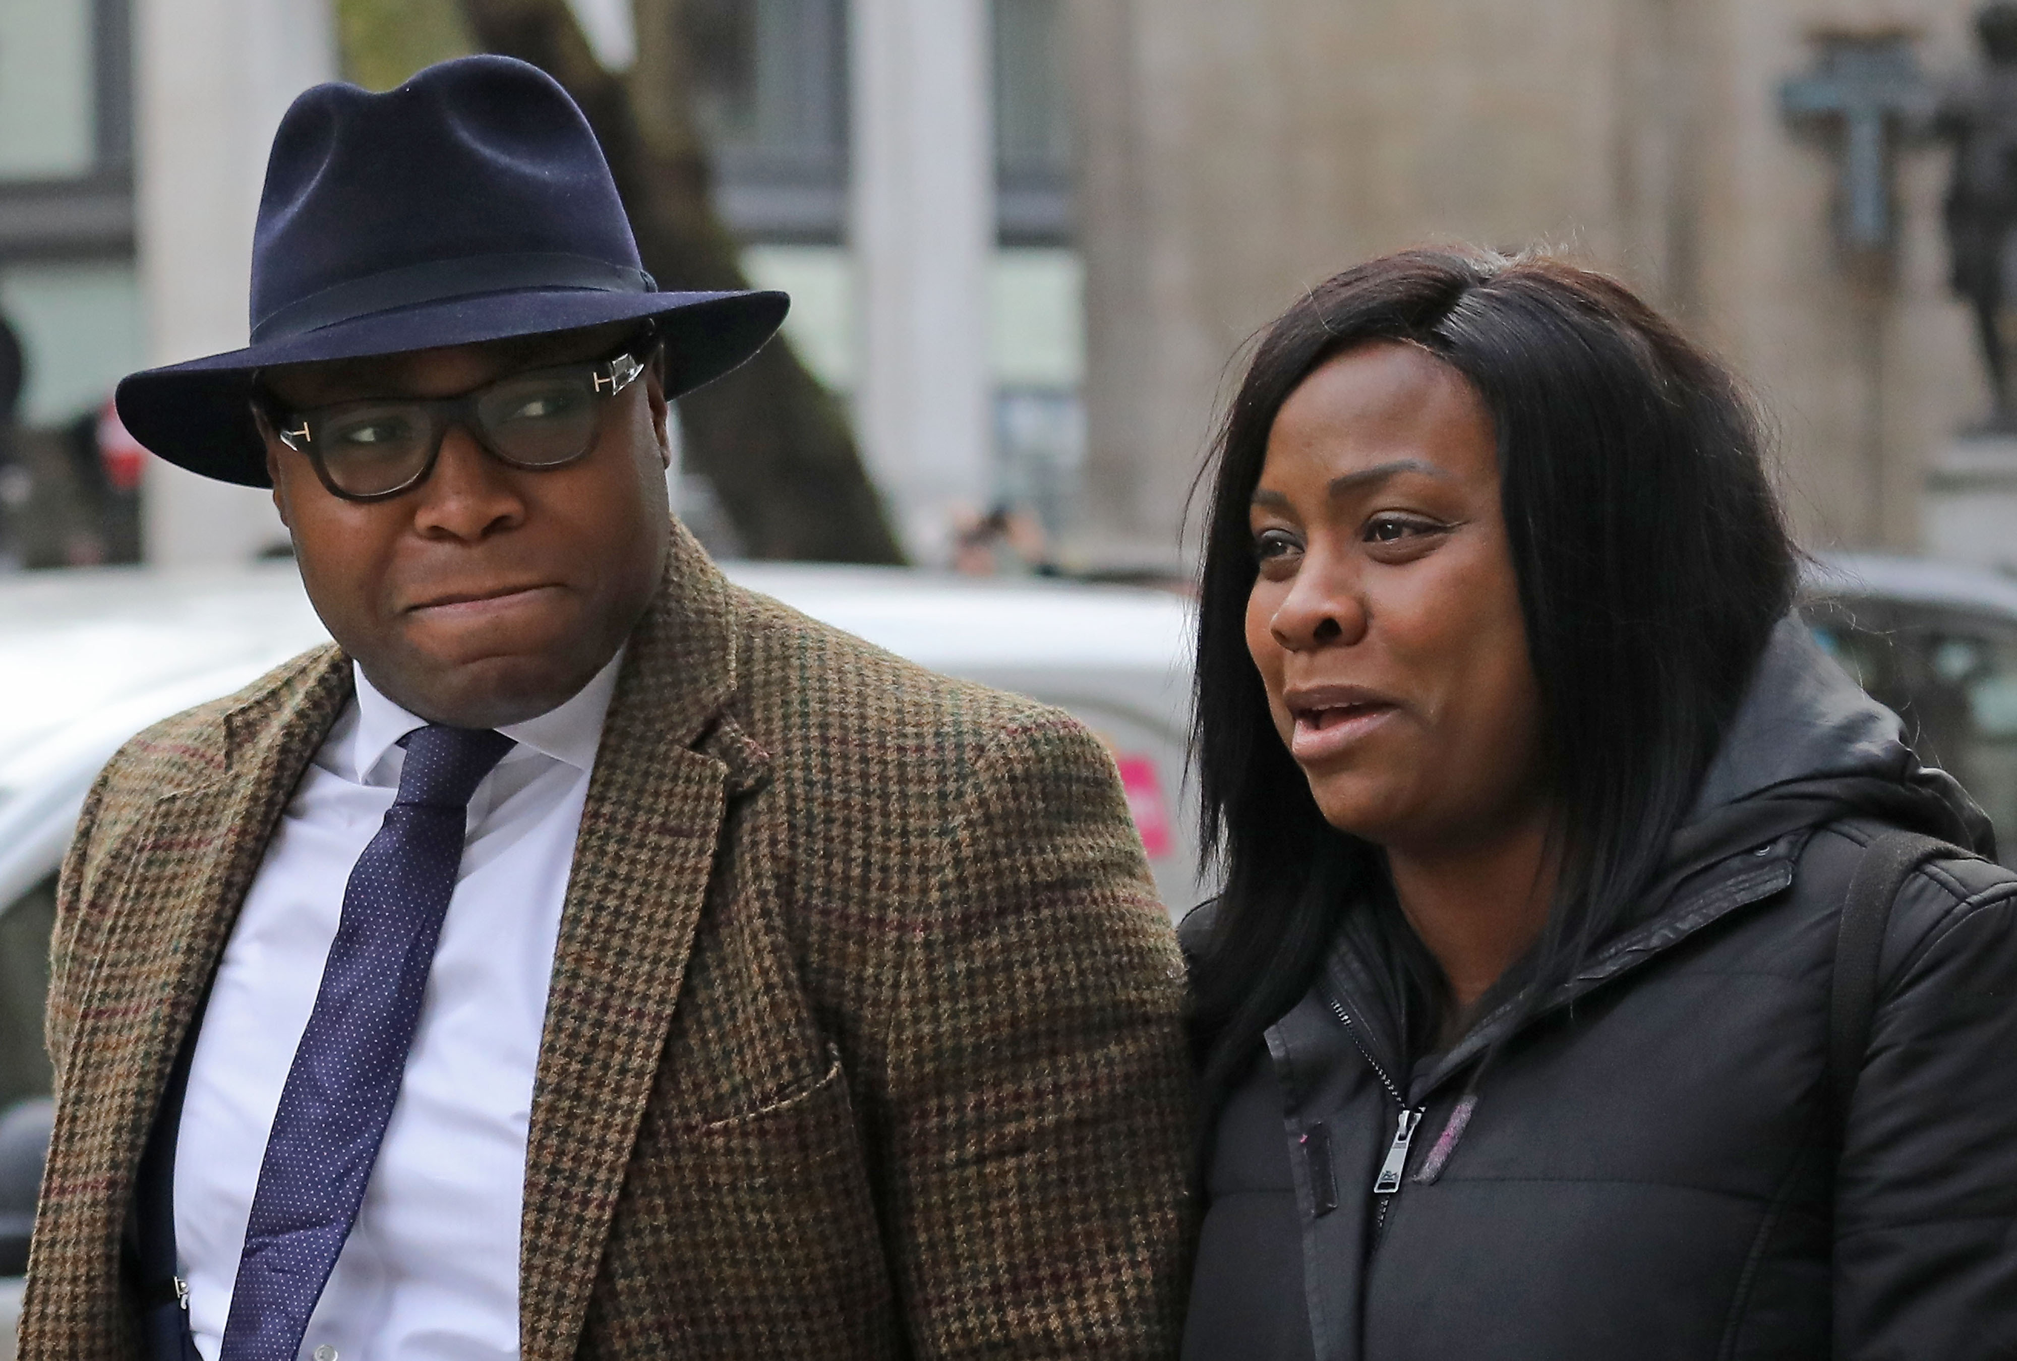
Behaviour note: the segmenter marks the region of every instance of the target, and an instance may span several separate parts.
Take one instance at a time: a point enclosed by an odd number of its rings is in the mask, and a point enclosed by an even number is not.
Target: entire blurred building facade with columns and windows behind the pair
[[[625,0],[571,0],[611,65]],[[1896,242],[1842,244],[1837,40],[1973,63],[1973,0],[686,0],[716,202],[849,395],[924,561],[1013,506],[1069,563],[1180,561],[1240,345],[1426,240],[1622,272],[1773,411],[1813,546],[1932,546],[1928,470],[1987,393],[1946,292],[1946,155],[1894,139]],[[0,6],[0,308],[26,419],[244,341],[266,143],[337,71],[331,0]],[[4,478],[0,478],[4,482]],[[0,486],[4,492],[4,486]],[[149,556],[280,540],[159,464]]]

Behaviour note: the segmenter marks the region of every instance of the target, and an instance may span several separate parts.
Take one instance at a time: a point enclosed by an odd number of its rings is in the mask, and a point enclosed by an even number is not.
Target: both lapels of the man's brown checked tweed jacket
[[[674,524],[664,585],[631,633],[603,724],[553,964],[524,1184],[528,1361],[575,1351],[728,800],[768,778],[768,754],[728,714],[736,639],[734,589]],[[107,847],[127,887],[89,964],[77,962],[87,980],[71,1053],[91,1063],[67,1065],[83,1075],[67,1087],[119,1075],[131,1085],[67,1099],[65,1119],[89,1117],[93,1129],[58,1129],[52,1153],[58,1180],[69,1161],[117,1169],[111,1196],[99,1182],[85,1198],[103,1222],[77,1226],[107,1248],[99,1298],[117,1290],[111,1244],[167,1071],[274,827],[349,698],[349,661],[333,645],[282,667],[177,746],[149,813]]]

